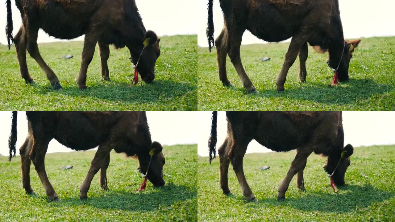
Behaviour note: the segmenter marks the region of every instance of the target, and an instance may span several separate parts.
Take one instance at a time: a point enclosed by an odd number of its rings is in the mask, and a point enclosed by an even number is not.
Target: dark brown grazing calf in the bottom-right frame
[[[243,172],[243,157],[248,143],[253,139],[273,151],[297,151],[286,177],[278,188],[278,200],[285,199],[285,192],[295,174],[297,174],[297,187],[305,190],[303,169],[307,157],[312,152],[328,157],[325,163],[327,171],[329,173],[335,171],[333,174],[335,184],[344,185],[344,174],[350,165],[349,157],[354,149],[351,145],[343,146],[341,112],[227,111],[226,117],[228,135],[218,149],[220,184],[225,194],[229,193],[228,167],[231,162],[245,198],[249,201],[254,199]],[[213,125],[216,126],[216,122],[213,121]],[[212,137],[213,134],[210,139],[216,139]],[[209,147],[209,150],[215,157],[215,146]],[[344,150],[348,152],[340,159],[340,154]],[[339,162],[339,167],[335,170]]]

